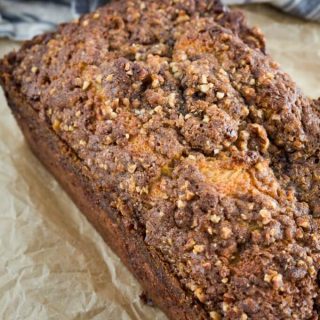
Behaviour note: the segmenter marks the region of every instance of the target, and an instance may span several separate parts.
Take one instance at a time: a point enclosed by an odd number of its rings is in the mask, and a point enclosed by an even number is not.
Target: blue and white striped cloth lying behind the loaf
[[[0,0],[0,37],[30,39],[89,12],[108,0]],[[270,3],[305,19],[320,21],[320,0],[223,0],[225,4]]]

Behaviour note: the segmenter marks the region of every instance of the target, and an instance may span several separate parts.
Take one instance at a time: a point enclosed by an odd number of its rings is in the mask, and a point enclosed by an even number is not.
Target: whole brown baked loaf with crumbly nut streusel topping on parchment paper
[[[318,319],[320,101],[241,13],[114,1],[0,78],[35,154],[169,318]]]

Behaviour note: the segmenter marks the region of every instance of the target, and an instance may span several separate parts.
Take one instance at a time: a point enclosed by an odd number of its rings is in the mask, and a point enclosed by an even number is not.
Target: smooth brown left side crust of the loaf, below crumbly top
[[[170,319],[207,319],[198,303],[186,296],[178,281],[166,270],[157,253],[147,248],[136,233],[128,232],[109,207],[108,200],[92,189],[77,167],[72,150],[39,120],[26,100],[13,91],[5,92],[8,104],[31,150],[138,279],[148,297]]]

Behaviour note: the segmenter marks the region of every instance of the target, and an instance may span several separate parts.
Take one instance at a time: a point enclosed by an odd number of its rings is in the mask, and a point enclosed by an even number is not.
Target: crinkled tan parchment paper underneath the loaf
[[[320,96],[320,25],[246,7],[268,51]],[[3,55],[17,44],[1,40]],[[28,149],[0,92],[0,319],[166,319]]]

